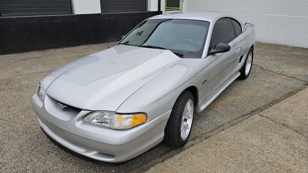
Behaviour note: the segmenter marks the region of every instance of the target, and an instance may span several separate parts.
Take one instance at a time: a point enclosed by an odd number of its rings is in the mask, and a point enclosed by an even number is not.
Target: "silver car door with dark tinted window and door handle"
[[[241,40],[235,35],[230,18],[221,18],[216,21],[209,50],[217,43],[229,44],[231,49],[228,52],[211,54],[206,57],[209,67],[209,77],[205,91],[206,98],[223,85],[235,73],[234,70],[237,68],[237,63],[235,62],[237,55],[241,54]]]

